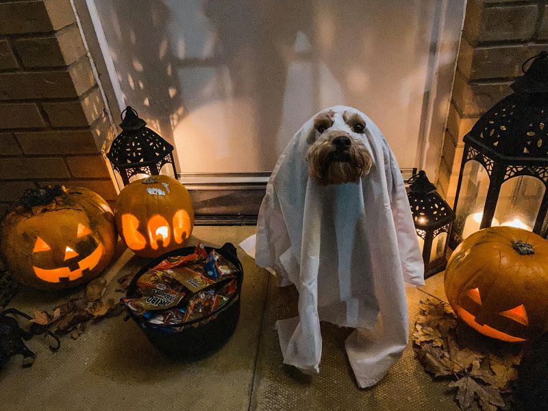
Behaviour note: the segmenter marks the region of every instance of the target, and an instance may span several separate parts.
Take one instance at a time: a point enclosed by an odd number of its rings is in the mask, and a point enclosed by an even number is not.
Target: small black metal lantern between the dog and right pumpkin
[[[408,180],[408,198],[416,236],[423,253],[425,277],[445,269],[448,236],[455,219],[449,204],[436,192],[424,171]]]

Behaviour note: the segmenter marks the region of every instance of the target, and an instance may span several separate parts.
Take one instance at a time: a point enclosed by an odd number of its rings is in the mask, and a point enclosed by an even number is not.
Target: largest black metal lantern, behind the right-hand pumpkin
[[[533,58],[514,93],[464,136],[451,246],[484,227],[510,225],[546,236],[548,52]]]

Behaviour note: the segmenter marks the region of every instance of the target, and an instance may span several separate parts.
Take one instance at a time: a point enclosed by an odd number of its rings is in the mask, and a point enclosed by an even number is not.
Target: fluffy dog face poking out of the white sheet
[[[372,160],[363,143],[365,126],[355,112],[329,110],[316,115],[307,137],[308,174],[327,185],[358,182],[369,173]]]

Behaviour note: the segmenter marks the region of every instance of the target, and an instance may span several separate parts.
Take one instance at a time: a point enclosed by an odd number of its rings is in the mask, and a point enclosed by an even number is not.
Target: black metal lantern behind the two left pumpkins
[[[134,175],[142,174],[146,177],[160,174],[162,166],[169,163],[177,178],[173,146],[146,125],[129,105],[123,110],[120,124],[123,131],[114,138],[107,158],[122,177],[124,186],[129,184],[129,179]]]

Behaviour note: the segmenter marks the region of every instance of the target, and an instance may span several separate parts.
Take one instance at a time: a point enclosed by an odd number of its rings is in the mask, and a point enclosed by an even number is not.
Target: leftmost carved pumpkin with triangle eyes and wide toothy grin
[[[32,200],[22,205],[25,198]],[[1,253],[13,277],[60,290],[97,277],[114,255],[116,228],[108,203],[86,188],[29,190],[3,220]]]

